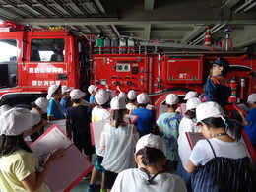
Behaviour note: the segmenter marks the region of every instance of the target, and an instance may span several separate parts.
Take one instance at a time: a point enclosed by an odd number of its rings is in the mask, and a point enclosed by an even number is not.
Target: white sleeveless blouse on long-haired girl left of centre
[[[127,168],[135,167],[135,145],[139,139],[138,134],[133,134],[132,124],[125,127],[112,127],[105,124],[101,134],[100,144],[105,146],[104,159],[101,165],[105,170],[119,173]]]

